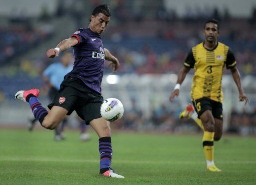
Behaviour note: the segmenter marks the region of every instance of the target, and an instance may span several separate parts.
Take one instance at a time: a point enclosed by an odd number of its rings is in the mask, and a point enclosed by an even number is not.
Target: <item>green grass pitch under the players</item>
[[[125,179],[98,175],[98,138],[66,141],[53,131],[0,130],[0,185],[256,184],[256,138],[224,135],[215,142],[221,173],[206,171],[202,135],[114,131],[112,167]]]

